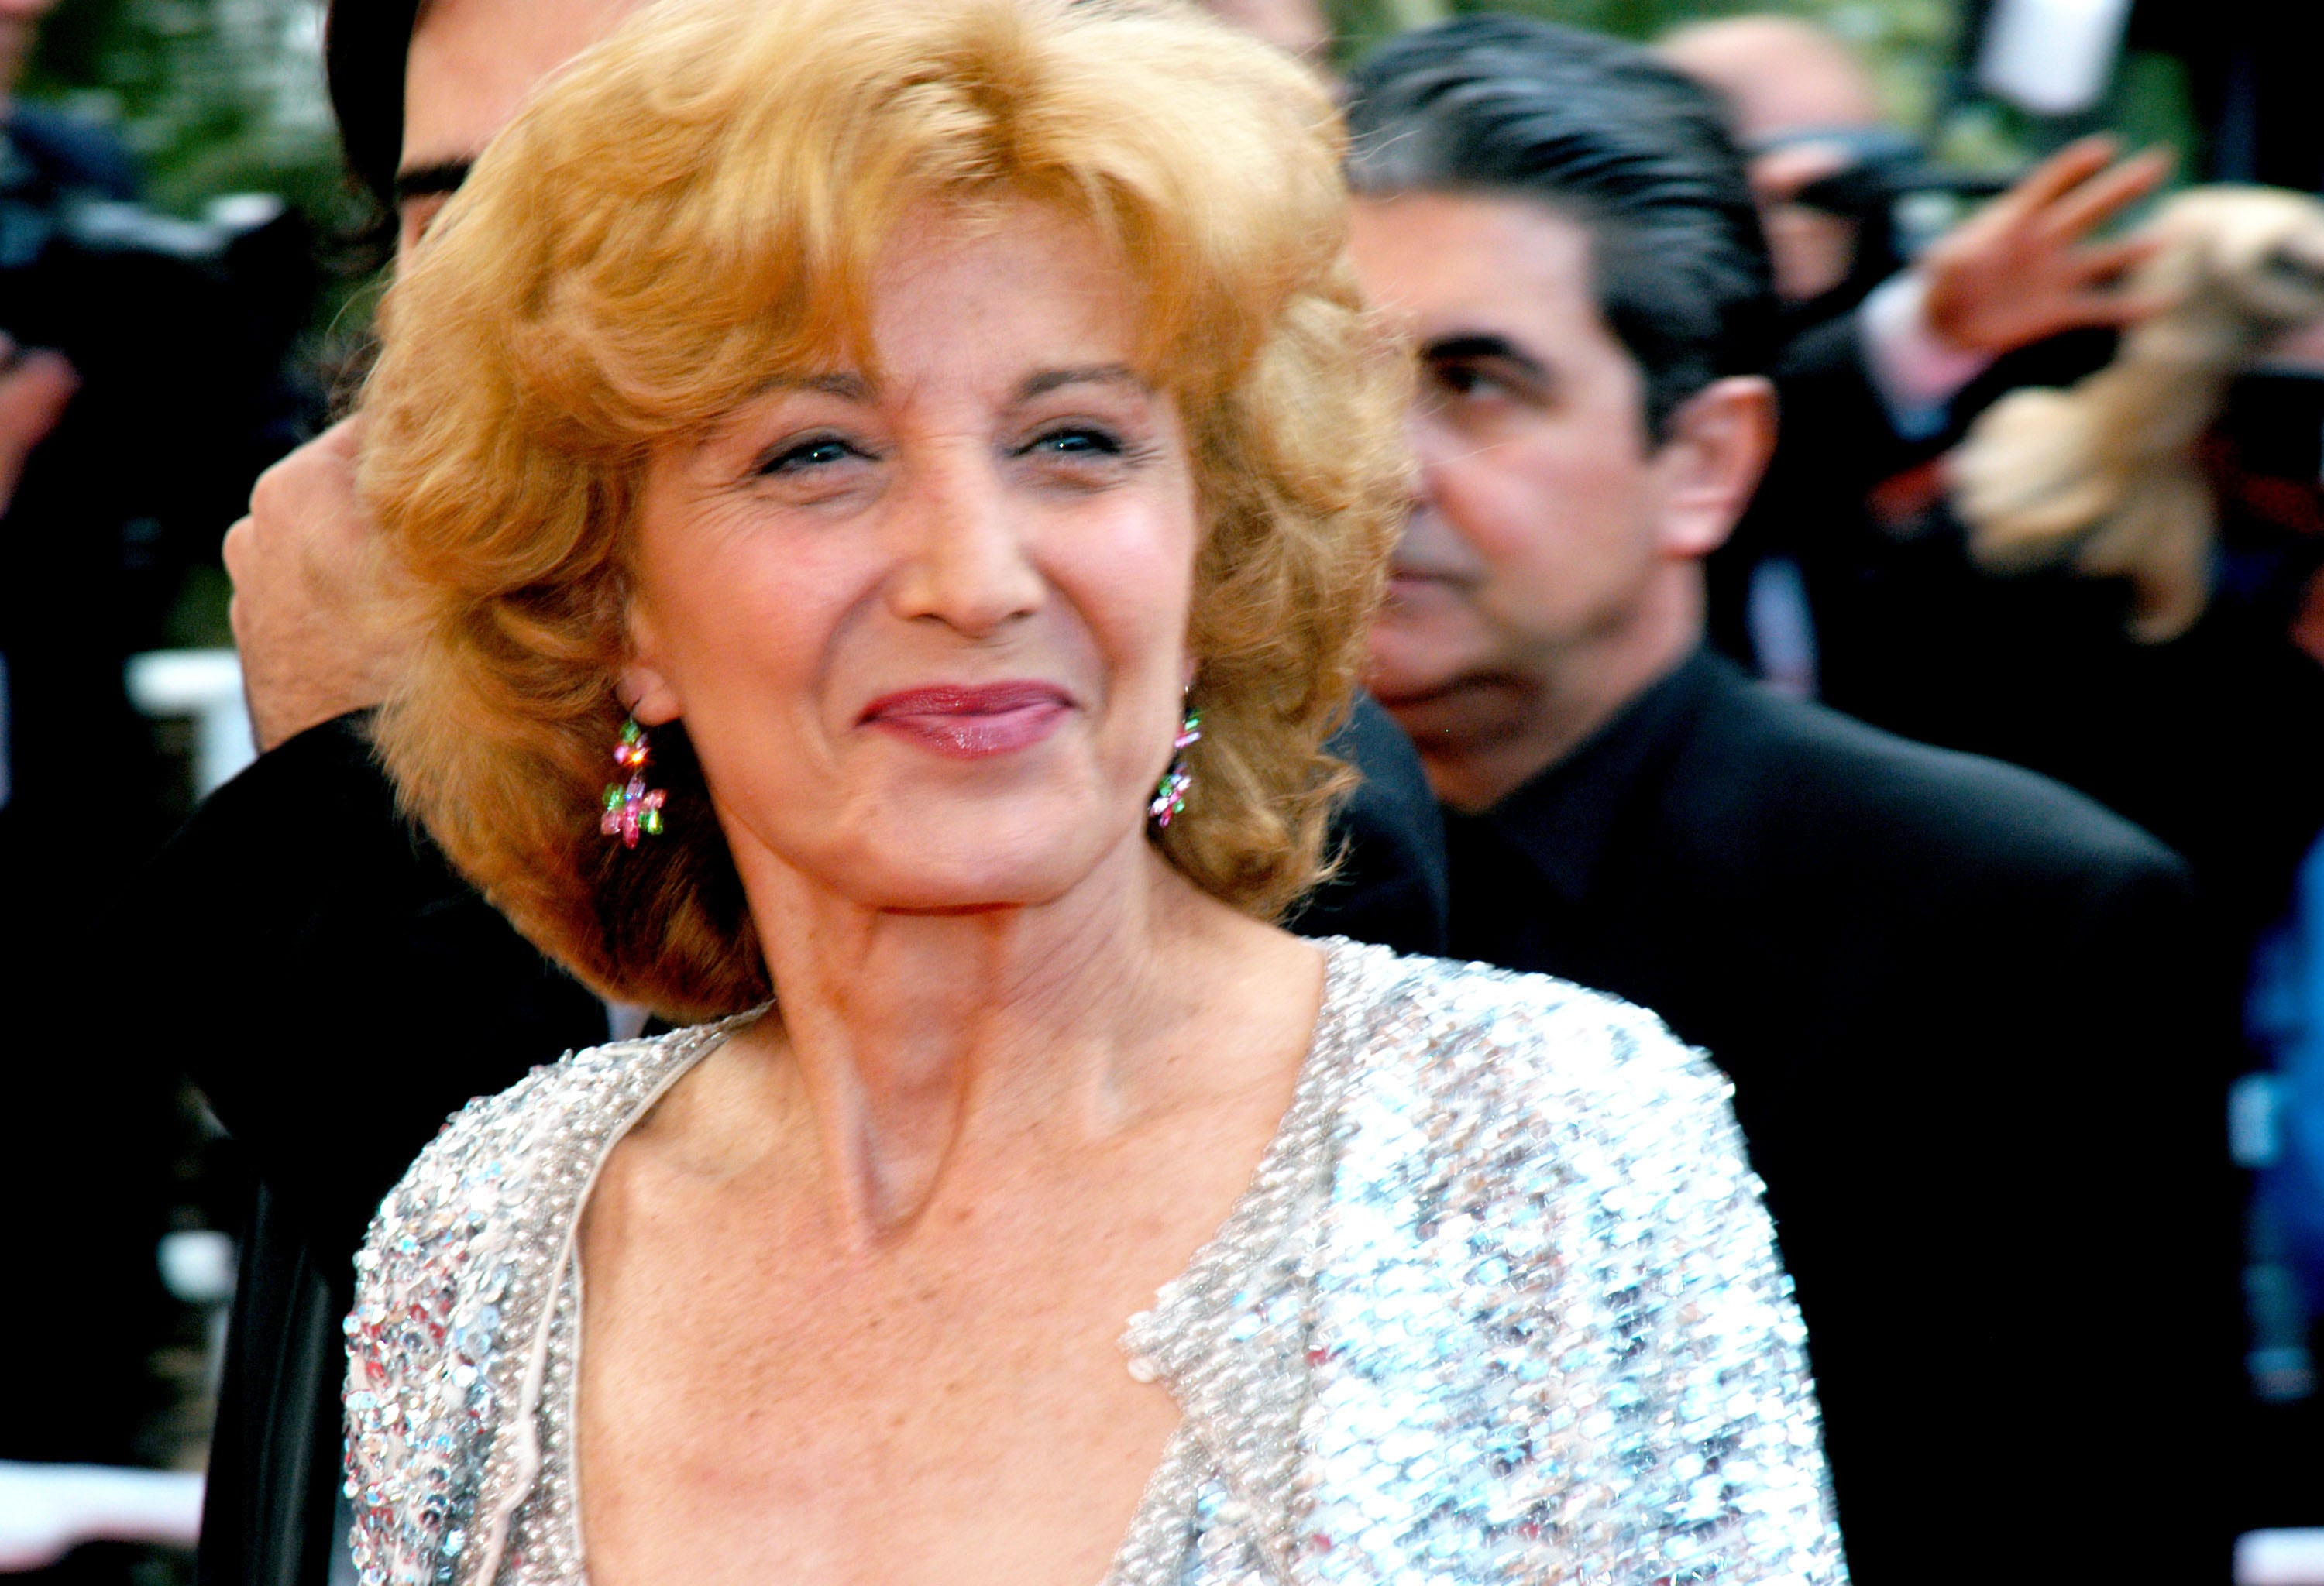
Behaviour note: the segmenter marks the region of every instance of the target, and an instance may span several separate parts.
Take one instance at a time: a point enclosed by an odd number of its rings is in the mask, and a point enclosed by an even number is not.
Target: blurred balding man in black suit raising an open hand
[[[2324,643],[2301,636],[2301,613],[2324,611],[2312,348],[2278,348],[2229,392],[2203,441],[2224,522],[2210,604],[2192,632],[2143,643],[2122,581],[1978,567],[1943,469],[1994,399],[2071,385],[2117,332],[2171,307],[2124,286],[2150,241],[2099,237],[2159,188],[2166,160],[2110,165],[2106,139],[2075,142],[1906,262],[1878,246],[1896,237],[1882,216],[1943,172],[1878,125],[1871,79],[1838,39],[1738,16],[1657,49],[1722,95],[1776,246],[1824,248],[1794,269],[1817,297],[1776,362],[1783,444],[1713,557],[1715,639],[1762,671],[1783,671],[1771,653],[1794,657],[1794,687],[1841,711],[2054,776],[2154,831],[2194,864],[2208,973],[2238,985],[2324,829]],[[1855,186],[1824,202],[1857,218],[1799,202],[1841,179]],[[1850,248],[1843,279],[1834,260]],[[1783,601],[1764,599],[1785,564],[1808,618],[1789,639]]]

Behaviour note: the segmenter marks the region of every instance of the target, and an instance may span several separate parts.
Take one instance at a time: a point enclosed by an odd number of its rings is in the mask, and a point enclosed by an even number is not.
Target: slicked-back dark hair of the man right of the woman
[[[1590,230],[1606,325],[1645,374],[1648,432],[1759,374],[1776,297],[1717,100],[1643,49],[1520,16],[1392,39],[1348,79],[1357,193],[1529,197]]]

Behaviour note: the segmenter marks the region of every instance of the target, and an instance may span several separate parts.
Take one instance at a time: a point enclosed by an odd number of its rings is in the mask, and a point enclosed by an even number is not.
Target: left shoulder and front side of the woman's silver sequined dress
[[[734,1024],[572,1052],[479,1096],[381,1203],[346,1319],[365,1586],[493,1579],[539,1470],[544,1335],[597,1163]]]

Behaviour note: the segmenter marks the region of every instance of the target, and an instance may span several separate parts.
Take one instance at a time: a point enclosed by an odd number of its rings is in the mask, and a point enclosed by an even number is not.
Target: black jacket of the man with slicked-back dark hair
[[[2222,1075],[2168,850],[1706,655],[1448,827],[1457,954],[1734,1080],[1857,1581],[2224,1579]]]

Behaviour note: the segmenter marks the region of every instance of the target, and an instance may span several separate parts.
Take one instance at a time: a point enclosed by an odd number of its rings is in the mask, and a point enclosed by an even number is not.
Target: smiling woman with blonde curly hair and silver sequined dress
[[[1339,153],[1167,2],[672,0],[446,207],[381,752],[706,1022],[381,1207],[363,1579],[1838,1579],[1715,1075],[1274,924],[1401,513]]]

